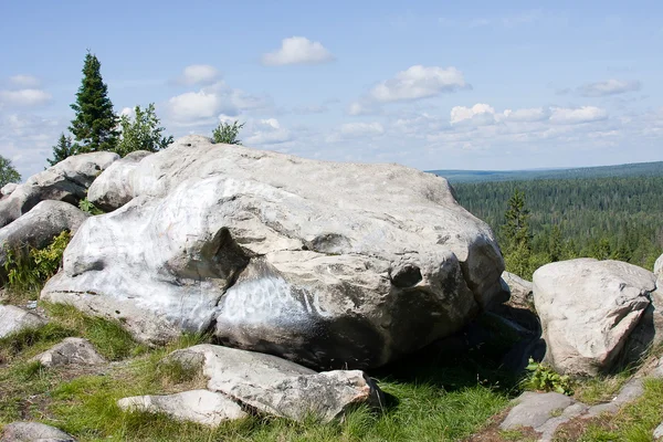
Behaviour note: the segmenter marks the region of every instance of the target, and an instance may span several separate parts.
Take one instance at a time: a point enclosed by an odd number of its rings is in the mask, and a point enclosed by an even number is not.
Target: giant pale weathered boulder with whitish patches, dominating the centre
[[[189,136],[127,186],[134,199],[78,230],[42,296],[122,318],[141,340],[215,324],[225,345],[376,367],[501,293],[493,233],[431,173]]]

